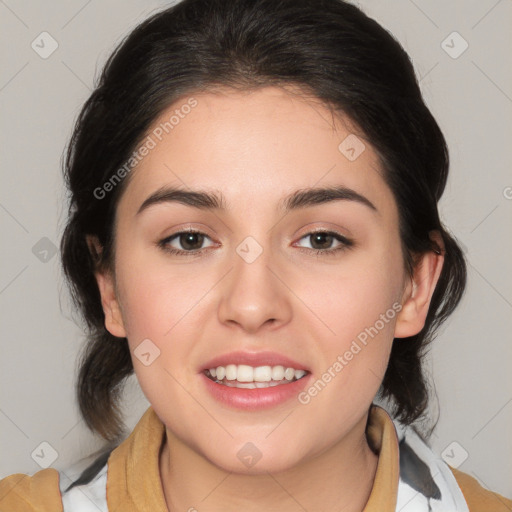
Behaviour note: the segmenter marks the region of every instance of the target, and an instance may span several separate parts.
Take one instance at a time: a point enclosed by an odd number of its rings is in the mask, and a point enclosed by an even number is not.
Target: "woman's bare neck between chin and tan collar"
[[[212,512],[361,512],[370,496],[378,456],[368,445],[367,416],[337,444],[276,473],[245,475],[225,471],[166,429],[160,476],[167,507]],[[307,483],[307,484],[306,484]]]

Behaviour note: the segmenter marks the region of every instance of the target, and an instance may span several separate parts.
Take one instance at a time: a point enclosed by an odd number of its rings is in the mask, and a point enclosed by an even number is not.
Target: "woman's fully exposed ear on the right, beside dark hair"
[[[402,294],[402,309],[397,315],[395,338],[407,338],[418,334],[425,326],[430,301],[444,263],[444,244],[438,231],[431,238],[439,251],[422,254],[416,262],[413,276],[408,278]]]

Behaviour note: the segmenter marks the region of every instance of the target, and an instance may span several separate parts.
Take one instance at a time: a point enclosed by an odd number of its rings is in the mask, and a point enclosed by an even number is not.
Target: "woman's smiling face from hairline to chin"
[[[284,470],[348,439],[399,328],[397,206],[372,147],[332,121],[280,88],[186,97],[148,132],[118,205],[115,284],[100,280],[107,328],[128,338],[168,434],[229,471]],[[286,208],[297,191],[335,187],[337,199]],[[221,207],[146,202],[166,188],[222,196]],[[308,373],[256,389],[205,375],[242,363],[239,380],[252,380],[247,367],[270,366],[276,380],[278,366]]]

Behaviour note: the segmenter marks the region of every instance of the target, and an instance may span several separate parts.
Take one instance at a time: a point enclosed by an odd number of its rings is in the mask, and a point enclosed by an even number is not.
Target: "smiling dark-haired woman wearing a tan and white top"
[[[65,165],[78,403],[109,446],[76,479],[5,478],[0,510],[509,510],[413,426],[466,281],[447,173],[408,56],[350,4],[142,23]],[[123,439],[133,372],[151,406]]]

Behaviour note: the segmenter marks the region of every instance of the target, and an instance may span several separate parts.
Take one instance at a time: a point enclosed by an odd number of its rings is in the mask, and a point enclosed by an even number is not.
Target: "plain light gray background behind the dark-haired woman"
[[[0,0],[0,477],[40,470],[31,454],[43,441],[56,451],[57,469],[101,444],[74,403],[84,338],[51,251],[65,221],[61,157],[114,45],[164,5]],[[359,5],[413,59],[450,148],[441,214],[469,260],[466,296],[428,360],[438,397],[432,413],[440,414],[433,448],[485,487],[512,497],[512,2]],[[43,31],[58,43],[47,59],[31,47],[34,40],[42,45]],[[463,39],[450,36],[454,31]],[[469,46],[457,55],[463,40]],[[125,398],[131,429],[148,406],[134,377]]]

